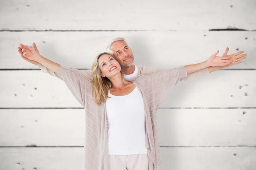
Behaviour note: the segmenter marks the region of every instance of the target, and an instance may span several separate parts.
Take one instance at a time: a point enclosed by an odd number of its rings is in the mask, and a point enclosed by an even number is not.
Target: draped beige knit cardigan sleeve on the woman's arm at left
[[[87,99],[86,93],[91,90],[91,74],[86,71],[61,65],[57,75],[64,80],[67,88],[83,108],[85,108]]]

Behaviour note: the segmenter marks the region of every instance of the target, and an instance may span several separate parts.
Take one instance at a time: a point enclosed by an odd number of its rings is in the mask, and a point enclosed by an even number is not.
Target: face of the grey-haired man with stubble
[[[127,69],[134,64],[134,56],[131,48],[122,40],[113,42],[110,46],[113,51],[114,57],[116,57],[122,69]]]

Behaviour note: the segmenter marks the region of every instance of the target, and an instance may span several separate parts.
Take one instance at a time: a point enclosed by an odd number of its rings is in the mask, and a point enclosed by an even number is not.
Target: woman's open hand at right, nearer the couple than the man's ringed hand
[[[217,50],[214,54],[212,54],[211,57],[209,57],[209,59],[207,59],[208,67],[210,67],[210,66],[212,66],[212,67],[225,66],[225,65],[229,65],[232,62],[230,57],[216,56],[218,54],[218,52],[219,52],[219,50]]]

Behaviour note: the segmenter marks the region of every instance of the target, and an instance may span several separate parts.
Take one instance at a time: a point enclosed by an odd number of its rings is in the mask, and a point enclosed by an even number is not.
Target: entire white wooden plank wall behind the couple
[[[164,68],[244,50],[239,65],[181,82],[157,113],[163,170],[256,170],[256,1],[0,1],[0,170],[82,167],[84,110],[24,61],[20,43],[90,69],[115,37]]]

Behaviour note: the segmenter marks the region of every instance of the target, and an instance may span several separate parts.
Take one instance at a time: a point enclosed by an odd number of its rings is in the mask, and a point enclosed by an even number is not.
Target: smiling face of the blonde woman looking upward
[[[117,62],[114,57],[108,54],[103,54],[101,57],[99,57],[98,65],[102,71],[101,76],[107,77],[108,79],[115,76],[116,74],[119,74],[121,71],[119,62]]]

